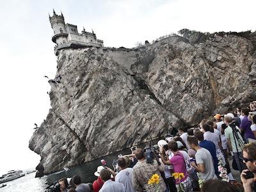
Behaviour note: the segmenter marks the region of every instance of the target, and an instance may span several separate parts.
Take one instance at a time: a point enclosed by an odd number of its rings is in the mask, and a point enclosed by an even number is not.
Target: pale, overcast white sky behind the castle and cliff
[[[54,78],[56,56],[48,13],[63,13],[78,31],[93,31],[107,47],[135,47],[180,29],[256,29],[256,1],[228,0],[0,0],[0,175],[35,168],[28,148],[34,123],[49,111],[44,76]]]

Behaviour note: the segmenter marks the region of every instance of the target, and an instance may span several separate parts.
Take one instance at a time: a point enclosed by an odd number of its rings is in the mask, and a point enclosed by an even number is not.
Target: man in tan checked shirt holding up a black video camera
[[[152,163],[147,163],[145,152],[142,148],[137,148],[135,151],[136,159],[138,163],[132,168],[132,186],[136,191],[165,191],[166,185],[163,178],[160,176],[160,172],[164,172],[164,164],[158,164],[156,159]],[[150,185],[148,180],[152,175],[159,175],[159,184]]]

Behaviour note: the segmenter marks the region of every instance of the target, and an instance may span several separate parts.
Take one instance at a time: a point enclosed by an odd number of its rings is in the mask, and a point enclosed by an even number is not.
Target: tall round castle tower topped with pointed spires
[[[66,43],[68,33],[65,29],[65,20],[62,12],[61,15],[56,15],[55,11],[53,10],[53,15],[52,17],[49,15],[49,20],[54,31],[52,42],[56,43],[57,45]]]

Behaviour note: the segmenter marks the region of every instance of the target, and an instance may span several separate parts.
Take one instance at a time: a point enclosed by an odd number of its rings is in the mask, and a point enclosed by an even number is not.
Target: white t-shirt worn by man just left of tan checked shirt
[[[125,191],[135,192],[135,189],[132,187],[132,168],[125,168],[117,173],[115,181],[122,183]]]

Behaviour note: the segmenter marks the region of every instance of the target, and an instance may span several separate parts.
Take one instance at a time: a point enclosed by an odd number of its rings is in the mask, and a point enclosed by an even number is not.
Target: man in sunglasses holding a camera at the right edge
[[[243,148],[243,161],[248,169],[241,173],[244,192],[256,191],[256,143],[250,143]]]

